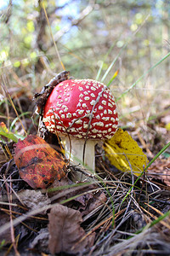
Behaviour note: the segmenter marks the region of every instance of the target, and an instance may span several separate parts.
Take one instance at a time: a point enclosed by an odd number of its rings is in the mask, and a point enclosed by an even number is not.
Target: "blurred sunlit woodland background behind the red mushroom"
[[[169,18],[168,0],[1,0],[3,84],[19,113],[32,113],[34,93],[63,70],[58,49],[72,77],[110,85],[122,127],[140,127],[147,142],[148,131],[164,136],[170,122],[163,121],[169,118],[169,58],[162,61],[170,49]],[[4,103],[4,89],[0,93]],[[1,119],[10,126],[14,115],[7,104],[3,110]]]

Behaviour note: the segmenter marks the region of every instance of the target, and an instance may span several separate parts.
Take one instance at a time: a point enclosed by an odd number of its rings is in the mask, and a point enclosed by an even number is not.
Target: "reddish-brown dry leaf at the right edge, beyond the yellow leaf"
[[[167,159],[157,159],[148,168],[148,174],[151,177],[159,178],[170,186],[170,157]]]

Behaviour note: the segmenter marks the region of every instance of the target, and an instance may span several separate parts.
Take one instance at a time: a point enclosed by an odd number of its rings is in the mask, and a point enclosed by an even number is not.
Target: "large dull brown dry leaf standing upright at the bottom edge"
[[[86,237],[80,224],[82,215],[79,211],[57,204],[48,214],[49,250],[51,253],[83,253],[83,250],[94,243],[94,234]]]

